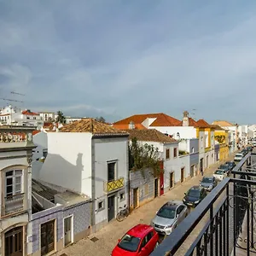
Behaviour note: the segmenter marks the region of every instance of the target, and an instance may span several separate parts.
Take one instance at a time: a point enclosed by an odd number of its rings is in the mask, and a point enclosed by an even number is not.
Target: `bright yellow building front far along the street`
[[[226,160],[229,157],[229,131],[215,125],[215,141],[219,144],[219,160]]]

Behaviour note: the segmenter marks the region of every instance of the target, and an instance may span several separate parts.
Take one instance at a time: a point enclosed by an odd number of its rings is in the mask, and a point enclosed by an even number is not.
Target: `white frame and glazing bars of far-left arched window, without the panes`
[[[15,172],[20,172],[21,174],[15,174]],[[8,172],[13,172],[13,175],[7,176]],[[11,197],[14,195],[20,195],[22,193],[24,193],[24,186],[23,186],[23,174],[24,174],[24,170],[22,169],[13,169],[13,170],[9,170],[5,172],[5,197]],[[16,178],[20,177],[20,183],[16,183]],[[8,185],[8,180],[12,179],[12,184]],[[16,189],[16,186],[20,184],[20,190]],[[8,195],[7,193],[7,188],[12,186],[12,195]]]

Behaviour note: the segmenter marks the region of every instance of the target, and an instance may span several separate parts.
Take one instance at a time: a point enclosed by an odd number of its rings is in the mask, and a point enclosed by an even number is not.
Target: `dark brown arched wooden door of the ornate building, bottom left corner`
[[[17,227],[4,234],[4,255],[23,255],[23,227]]]

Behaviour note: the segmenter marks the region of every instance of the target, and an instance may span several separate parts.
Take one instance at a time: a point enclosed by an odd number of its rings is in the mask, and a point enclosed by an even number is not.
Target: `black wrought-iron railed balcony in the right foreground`
[[[150,255],[256,255],[256,154],[247,154]]]

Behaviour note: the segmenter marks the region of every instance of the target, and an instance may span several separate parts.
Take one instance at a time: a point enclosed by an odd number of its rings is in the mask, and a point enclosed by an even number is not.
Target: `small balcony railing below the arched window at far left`
[[[12,195],[4,198],[4,215],[9,215],[15,212],[24,210],[24,194]]]

